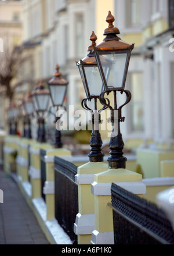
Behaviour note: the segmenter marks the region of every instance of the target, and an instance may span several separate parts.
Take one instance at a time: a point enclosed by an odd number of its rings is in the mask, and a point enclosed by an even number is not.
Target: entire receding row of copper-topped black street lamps
[[[92,45],[88,48],[88,55],[76,63],[81,75],[82,83],[84,85],[86,98],[82,101],[82,107],[92,113],[92,134],[90,139],[90,162],[102,162],[104,154],[102,153],[102,138],[99,132],[99,124],[101,121],[100,113],[104,109],[111,111],[111,123],[113,133],[110,138],[110,157],[108,158],[109,168],[125,168],[126,158],[123,156],[124,141],[120,131],[120,122],[124,122],[125,118],[122,117],[122,107],[131,101],[131,93],[125,90],[126,76],[128,73],[129,60],[134,44],[130,45],[118,37],[119,30],[114,27],[114,17],[111,12],[108,12],[106,22],[108,23],[107,29],[104,30],[106,36],[100,44],[96,44],[97,37],[92,31],[90,41]],[[30,129],[30,116],[32,113],[37,113],[38,116],[38,141],[45,142],[45,119],[44,113],[48,111],[49,98],[52,99],[53,108],[59,110],[63,107],[64,98],[66,97],[68,82],[61,77],[59,66],[56,66],[56,73],[53,78],[48,82],[49,90],[44,85],[38,84],[34,91],[28,94],[24,99],[23,115],[24,124],[28,126],[28,131],[24,130],[24,136],[31,138]],[[106,97],[113,94],[113,104]],[[123,105],[117,106],[117,94],[126,95],[126,101]],[[90,109],[88,102],[94,101],[94,109]],[[103,108],[98,110],[97,106],[102,104]],[[14,111],[14,109],[13,109]],[[115,111],[118,112],[118,117],[115,118]],[[15,112],[15,111],[14,111]],[[17,113],[14,113],[17,115]],[[9,115],[9,120],[16,120],[17,116]],[[56,117],[55,122],[59,120]],[[10,123],[12,125],[12,122]],[[12,129],[12,128],[10,128]],[[15,132],[15,131],[14,131]],[[61,148],[61,134],[56,129],[55,142],[56,148]]]

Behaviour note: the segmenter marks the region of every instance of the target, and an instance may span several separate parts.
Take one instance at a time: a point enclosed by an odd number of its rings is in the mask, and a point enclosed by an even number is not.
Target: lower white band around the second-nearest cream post
[[[95,229],[95,215],[94,214],[77,214],[74,223],[75,234],[92,234]]]

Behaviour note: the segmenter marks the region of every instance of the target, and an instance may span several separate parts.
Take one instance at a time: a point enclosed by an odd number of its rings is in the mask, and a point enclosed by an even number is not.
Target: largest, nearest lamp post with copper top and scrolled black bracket
[[[131,101],[131,93],[125,90],[126,75],[128,73],[129,60],[134,44],[130,45],[117,36],[119,30],[114,27],[114,17],[108,12],[106,22],[108,28],[104,30],[106,37],[100,44],[93,45],[93,54],[95,55],[100,77],[103,81],[104,91],[100,94],[100,102],[111,110],[111,122],[113,133],[110,138],[110,157],[108,164],[110,169],[125,168],[126,158],[123,156],[124,141],[120,131],[120,122],[124,122],[122,117],[122,107]],[[126,94],[126,101],[123,105],[117,106],[117,92]],[[106,99],[105,94],[113,93],[114,106],[112,107]],[[115,118],[115,112],[118,112],[118,118]],[[117,120],[115,120],[117,119]]]

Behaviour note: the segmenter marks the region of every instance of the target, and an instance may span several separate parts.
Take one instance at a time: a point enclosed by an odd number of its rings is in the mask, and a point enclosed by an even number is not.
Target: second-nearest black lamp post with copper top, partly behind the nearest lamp
[[[89,54],[77,62],[79,73],[84,84],[85,93],[87,98],[82,101],[82,108],[92,113],[92,134],[90,138],[90,153],[88,155],[90,162],[102,162],[104,154],[102,152],[102,138],[99,132],[99,123],[101,123],[100,112],[106,109],[104,106],[102,109],[97,111],[97,99],[104,90],[103,82],[100,77],[99,69],[97,67],[95,56],[93,55],[93,47],[96,45],[97,37],[92,31],[90,41],[92,45],[88,47]],[[87,105],[88,101],[95,102],[94,110],[90,109]]]

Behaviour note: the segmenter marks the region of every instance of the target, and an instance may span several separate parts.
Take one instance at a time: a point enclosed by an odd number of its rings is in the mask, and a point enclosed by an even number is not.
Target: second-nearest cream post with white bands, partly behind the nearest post
[[[74,223],[74,232],[78,235],[78,244],[90,244],[95,227],[95,202],[90,192],[94,175],[104,172],[108,165],[104,162],[88,162],[78,167],[76,182],[78,184],[79,212]]]

